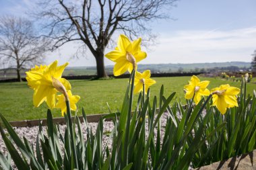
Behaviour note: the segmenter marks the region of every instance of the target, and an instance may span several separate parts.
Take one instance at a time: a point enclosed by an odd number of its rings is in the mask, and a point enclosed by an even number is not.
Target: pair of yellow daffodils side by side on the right
[[[236,87],[230,87],[230,85],[220,85],[211,89],[211,92],[206,89],[210,81],[200,81],[198,77],[193,75],[189,81],[189,85],[185,85],[186,91],[185,98],[193,99],[195,103],[199,103],[201,96],[207,96],[212,93],[212,105],[215,105],[221,114],[225,114],[227,108],[238,107],[237,97],[240,93],[240,89]]]

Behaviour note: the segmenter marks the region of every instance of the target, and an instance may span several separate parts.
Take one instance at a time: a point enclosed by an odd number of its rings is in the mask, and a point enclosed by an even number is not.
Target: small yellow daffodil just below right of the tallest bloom
[[[143,73],[139,73],[138,71],[136,71],[134,80],[134,93],[139,93],[140,91],[143,91],[143,84],[145,85],[145,93],[147,93],[148,87],[156,83],[156,81],[150,79],[150,76],[150,70],[144,71]]]

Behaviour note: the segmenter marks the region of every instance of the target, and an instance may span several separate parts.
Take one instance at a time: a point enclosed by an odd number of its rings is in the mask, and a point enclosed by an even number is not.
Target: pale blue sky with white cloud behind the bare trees
[[[32,0],[0,1],[0,15],[24,15]],[[144,48],[148,58],[141,64],[251,61],[256,50],[255,0],[181,0],[170,11],[173,19],[158,20],[149,26],[158,34],[156,46]],[[141,37],[143,38],[143,37]],[[70,43],[48,54],[46,62],[69,60],[70,66],[92,66],[90,54],[69,58],[77,44]],[[111,49],[107,49],[108,52]],[[113,62],[105,59],[106,65]]]

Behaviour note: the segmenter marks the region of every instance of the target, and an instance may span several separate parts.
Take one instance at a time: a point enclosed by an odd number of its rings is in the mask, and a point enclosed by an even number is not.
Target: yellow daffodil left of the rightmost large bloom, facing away
[[[185,98],[192,99],[195,94],[194,101],[196,104],[199,103],[202,95],[210,95],[210,91],[206,89],[209,83],[210,81],[200,81],[198,77],[193,75],[189,81],[189,85],[184,86],[186,91]]]

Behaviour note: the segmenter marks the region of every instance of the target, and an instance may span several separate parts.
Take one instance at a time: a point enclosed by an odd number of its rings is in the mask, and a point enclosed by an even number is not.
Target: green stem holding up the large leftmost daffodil
[[[72,147],[72,155],[75,161],[75,168],[78,169],[78,162],[77,162],[77,153],[75,149],[75,136],[73,134],[73,125],[72,125],[72,119],[71,119],[71,110],[70,110],[70,105],[69,105],[69,100],[66,100],[66,105],[67,105],[67,118],[68,118],[68,126],[69,126],[69,132],[71,136],[71,147]]]

